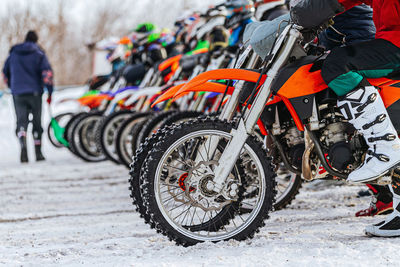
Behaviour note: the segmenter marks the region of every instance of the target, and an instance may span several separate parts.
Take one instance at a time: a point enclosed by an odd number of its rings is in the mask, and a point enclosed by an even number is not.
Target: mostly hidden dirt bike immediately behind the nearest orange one
[[[240,51],[239,51],[240,52]],[[255,53],[252,53],[251,47],[249,49],[246,49],[244,53],[240,57],[238,57],[238,60],[234,60],[231,63],[233,63],[232,66],[236,66],[237,68],[250,68],[254,67],[257,64],[259,64],[260,60]],[[240,70],[239,70],[240,71]],[[214,70],[212,73],[219,73],[220,71]],[[210,73],[206,72],[206,73]],[[207,74],[204,74],[207,75]],[[218,77],[219,75],[214,75],[214,77]],[[220,76],[222,77],[222,76]],[[211,112],[206,112],[203,110],[204,108],[204,103],[201,104],[202,98],[196,98],[193,100],[192,104],[185,104],[183,105],[184,111],[177,111],[168,116],[164,121],[161,122],[160,129],[163,129],[164,127],[169,127],[172,124],[176,124],[179,122],[183,121],[188,121],[189,119],[193,119],[196,117],[199,117],[200,115],[204,114],[217,114],[219,112],[226,114],[224,115],[226,118],[232,118],[233,115],[236,112],[236,108],[230,105],[225,105],[220,111],[220,107],[218,103],[223,101],[223,98],[225,94],[231,95],[233,92],[232,86],[226,86],[225,84],[221,83],[211,83],[211,82],[206,82],[200,86],[194,86],[190,87],[189,89],[186,90],[186,92],[183,92],[180,96],[177,98],[174,98],[174,94],[177,93],[185,84],[181,83],[177,86],[169,88],[166,92],[164,92],[161,96],[159,96],[152,104],[152,106],[163,104],[164,101],[168,103],[168,101],[180,101],[181,99],[188,97],[188,99],[192,99],[191,97],[193,95],[196,95],[198,93],[204,93],[207,92],[207,94],[217,94],[218,97],[217,99],[214,100],[214,105],[212,107],[209,107],[208,111]],[[228,90],[227,90],[228,89]],[[235,94],[239,95],[241,90],[235,90]],[[203,98],[204,99],[204,98]],[[225,102],[225,101],[224,101]],[[190,108],[192,106],[192,108]],[[189,107],[189,108],[188,108]],[[194,108],[194,109],[193,109]],[[200,108],[200,109],[196,109]],[[228,109],[228,111],[227,111]],[[143,205],[143,200],[140,192],[140,176],[143,171],[142,167],[144,166],[144,162],[146,159],[146,156],[150,152],[150,150],[153,148],[154,144],[159,140],[159,138],[163,138],[163,130],[157,131],[155,134],[153,134],[151,137],[145,139],[142,144],[139,146],[139,149],[137,150],[135,156],[133,157],[133,162],[131,164],[131,178],[130,178],[130,190],[131,190],[131,197],[133,199],[133,203],[136,206],[136,210],[139,212],[141,217],[145,219],[146,223],[149,223],[150,226],[154,227],[154,223],[152,222],[150,215],[146,213],[146,209]],[[246,166],[247,170],[251,172],[251,166]],[[277,185],[277,190],[279,191],[278,199],[276,203],[274,204],[275,209],[282,209],[286,207],[287,205],[290,204],[290,202],[294,199],[294,197],[297,195],[300,187],[301,187],[301,179],[297,175],[289,174],[288,173],[281,173],[279,175],[278,179],[279,183]]]

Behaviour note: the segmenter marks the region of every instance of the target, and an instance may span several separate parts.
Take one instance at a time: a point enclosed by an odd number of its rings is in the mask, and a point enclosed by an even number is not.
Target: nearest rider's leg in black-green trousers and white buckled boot
[[[322,76],[337,95],[343,115],[364,135],[369,155],[349,175],[351,182],[368,182],[400,163],[400,140],[377,89],[364,80],[400,67],[400,48],[377,39],[334,49]]]

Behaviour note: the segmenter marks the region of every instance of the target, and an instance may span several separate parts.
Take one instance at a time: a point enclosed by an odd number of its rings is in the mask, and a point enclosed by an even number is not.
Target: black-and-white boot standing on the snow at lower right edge
[[[393,212],[386,217],[386,220],[367,226],[365,234],[369,236],[400,236],[400,175],[398,172],[394,173],[392,180]]]

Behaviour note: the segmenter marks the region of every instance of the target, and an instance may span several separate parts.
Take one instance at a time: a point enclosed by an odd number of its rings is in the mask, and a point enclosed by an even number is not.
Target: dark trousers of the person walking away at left
[[[14,107],[17,115],[16,134],[26,132],[29,124],[29,114],[32,114],[32,132],[35,140],[40,140],[42,128],[42,95],[24,94],[14,95]]]

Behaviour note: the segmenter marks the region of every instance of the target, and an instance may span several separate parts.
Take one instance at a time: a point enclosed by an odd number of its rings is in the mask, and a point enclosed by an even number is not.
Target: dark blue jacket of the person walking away
[[[13,95],[53,93],[53,71],[43,50],[32,42],[11,48],[3,68],[4,80]]]

